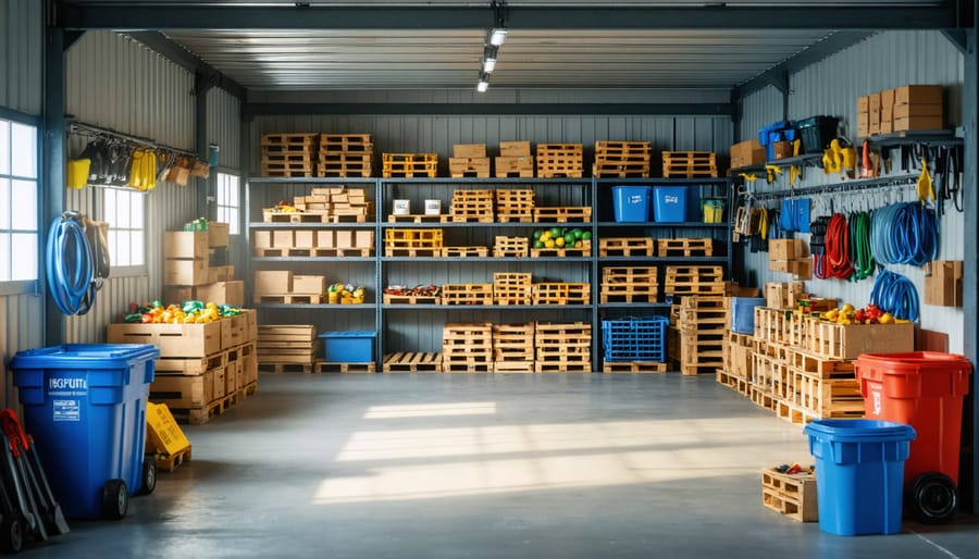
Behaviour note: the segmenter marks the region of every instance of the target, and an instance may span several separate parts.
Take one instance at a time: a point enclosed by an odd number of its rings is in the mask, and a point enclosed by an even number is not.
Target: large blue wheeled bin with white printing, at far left
[[[102,487],[142,488],[146,400],[160,350],[151,345],[66,344],[17,352],[24,425],[65,515],[102,517]]]

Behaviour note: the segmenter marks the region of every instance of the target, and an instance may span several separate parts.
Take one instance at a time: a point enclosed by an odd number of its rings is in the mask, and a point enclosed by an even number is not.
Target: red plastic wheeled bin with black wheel
[[[855,372],[867,419],[907,423],[918,434],[904,463],[904,495],[913,512],[922,522],[952,520],[971,363],[937,351],[864,353]]]

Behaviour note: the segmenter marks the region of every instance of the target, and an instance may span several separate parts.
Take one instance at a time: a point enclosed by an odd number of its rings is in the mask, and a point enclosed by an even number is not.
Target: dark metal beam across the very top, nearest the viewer
[[[942,29],[956,10],[938,7],[508,7],[510,29]],[[67,29],[483,29],[488,7],[294,7],[66,4]]]

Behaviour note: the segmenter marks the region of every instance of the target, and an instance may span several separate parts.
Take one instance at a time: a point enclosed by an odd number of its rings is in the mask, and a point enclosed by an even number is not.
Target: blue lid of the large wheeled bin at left
[[[122,369],[160,357],[151,344],[62,344],[17,351],[11,369]]]

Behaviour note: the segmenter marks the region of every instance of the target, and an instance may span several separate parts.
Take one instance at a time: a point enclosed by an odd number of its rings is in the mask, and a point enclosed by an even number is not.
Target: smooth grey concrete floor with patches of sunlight
[[[120,522],[27,557],[979,558],[979,523],[839,537],[761,506],[798,425],[707,376],[262,375]],[[29,555],[28,555],[29,554]]]

